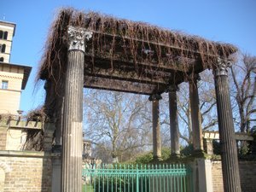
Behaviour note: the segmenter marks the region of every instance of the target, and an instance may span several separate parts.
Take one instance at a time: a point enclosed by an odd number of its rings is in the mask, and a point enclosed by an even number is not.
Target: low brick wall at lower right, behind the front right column
[[[242,192],[256,191],[256,162],[240,161],[239,171]],[[212,161],[212,185],[213,192],[223,192],[223,177],[221,161]]]

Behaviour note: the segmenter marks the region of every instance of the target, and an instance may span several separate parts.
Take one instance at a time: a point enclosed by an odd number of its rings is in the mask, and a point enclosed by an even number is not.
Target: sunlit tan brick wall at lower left
[[[51,192],[51,156],[45,152],[0,151],[0,192]],[[3,183],[0,183],[0,186]]]

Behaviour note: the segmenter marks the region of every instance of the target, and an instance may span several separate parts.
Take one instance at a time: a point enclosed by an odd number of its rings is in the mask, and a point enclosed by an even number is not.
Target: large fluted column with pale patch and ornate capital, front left
[[[67,72],[64,93],[61,191],[82,191],[82,122],[84,87],[84,39],[91,32],[68,27]]]

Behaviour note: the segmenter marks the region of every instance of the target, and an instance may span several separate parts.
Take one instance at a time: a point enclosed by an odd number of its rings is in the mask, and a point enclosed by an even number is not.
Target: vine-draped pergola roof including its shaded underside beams
[[[86,43],[84,75],[113,81],[123,78],[129,84],[137,82],[143,86],[148,86],[150,82],[158,87],[179,84],[186,75],[212,68],[218,57],[225,59],[237,50],[230,44],[208,41],[143,22],[61,9],[45,44],[38,79],[56,80],[65,73],[68,26],[83,27],[93,32],[92,39]],[[97,79],[97,82],[106,84],[102,79]],[[84,86],[90,87],[90,82],[88,84],[85,82]]]

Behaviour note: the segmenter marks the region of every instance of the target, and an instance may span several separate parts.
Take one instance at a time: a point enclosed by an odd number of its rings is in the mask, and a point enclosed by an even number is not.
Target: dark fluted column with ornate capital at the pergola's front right
[[[213,71],[218,111],[218,131],[221,143],[224,192],[241,192],[236,137],[228,83],[227,68],[229,66],[230,63],[228,61],[218,59],[218,65]]]

